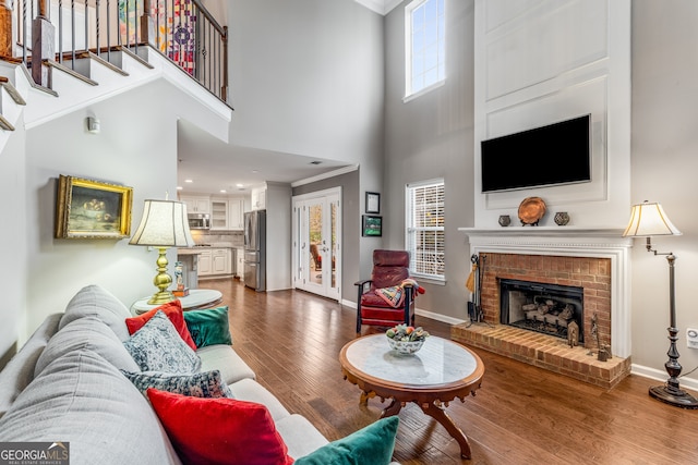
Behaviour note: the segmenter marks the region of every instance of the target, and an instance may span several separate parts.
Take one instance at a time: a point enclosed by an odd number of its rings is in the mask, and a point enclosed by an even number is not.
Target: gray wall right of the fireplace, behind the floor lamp
[[[698,366],[686,328],[698,328],[698,2],[633,1],[631,198],[660,201],[683,235],[654,237],[676,259],[678,352],[684,374]],[[628,208],[629,211],[629,208]],[[633,362],[665,377],[669,267],[664,257],[633,248]],[[690,375],[698,378],[696,374]]]

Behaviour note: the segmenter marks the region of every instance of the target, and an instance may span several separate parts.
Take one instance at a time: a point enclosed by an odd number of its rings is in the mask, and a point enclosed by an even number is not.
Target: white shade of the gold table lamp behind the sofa
[[[194,240],[189,230],[186,205],[173,200],[145,200],[141,224],[129,244],[192,247]]]

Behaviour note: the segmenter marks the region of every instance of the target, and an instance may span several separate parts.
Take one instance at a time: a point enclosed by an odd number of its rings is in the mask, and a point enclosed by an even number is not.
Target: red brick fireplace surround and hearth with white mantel
[[[457,325],[454,340],[573,378],[611,388],[629,374],[628,249],[619,230],[579,228],[464,228],[482,268],[484,322]],[[469,257],[464,257],[464,259]],[[583,343],[502,325],[501,280],[583,289]],[[597,339],[612,358],[597,357]]]

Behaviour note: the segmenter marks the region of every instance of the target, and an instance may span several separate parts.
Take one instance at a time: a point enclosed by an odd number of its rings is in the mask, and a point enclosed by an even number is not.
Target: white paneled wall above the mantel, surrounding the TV
[[[476,227],[498,228],[500,215],[519,224],[518,206],[530,196],[547,205],[541,225],[554,225],[555,211],[567,211],[570,225],[624,225],[630,186],[629,0],[477,0],[474,35]],[[591,182],[481,194],[481,140],[589,113]]]

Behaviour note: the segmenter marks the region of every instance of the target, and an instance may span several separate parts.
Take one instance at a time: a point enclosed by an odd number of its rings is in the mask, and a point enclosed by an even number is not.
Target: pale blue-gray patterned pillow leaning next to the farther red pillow
[[[123,345],[143,371],[191,375],[201,368],[201,358],[178,334],[163,311],[156,313]]]

